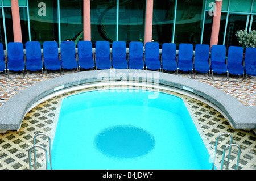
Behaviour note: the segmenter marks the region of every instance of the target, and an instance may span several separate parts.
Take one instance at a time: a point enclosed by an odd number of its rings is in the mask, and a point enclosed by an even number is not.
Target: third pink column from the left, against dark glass
[[[153,3],[154,0],[147,0],[144,45],[152,41]]]

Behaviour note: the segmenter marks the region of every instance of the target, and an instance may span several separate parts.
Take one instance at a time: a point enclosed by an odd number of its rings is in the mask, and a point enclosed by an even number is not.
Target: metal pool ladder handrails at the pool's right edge
[[[229,158],[230,158],[230,153],[231,153],[231,148],[232,146],[235,146],[236,148],[238,148],[238,158],[237,158],[237,165],[236,165],[236,170],[238,170],[238,164],[239,164],[239,159],[240,159],[240,154],[241,154],[241,148],[240,146],[236,145],[236,144],[233,144],[232,141],[233,141],[233,136],[229,133],[221,133],[217,138],[216,138],[216,145],[215,145],[215,151],[214,151],[214,156],[213,156],[213,166],[212,166],[212,170],[214,169],[214,164],[215,164],[215,161],[216,161],[216,153],[217,153],[217,146],[218,146],[218,138],[220,138],[221,136],[224,136],[224,135],[228,135],[230,137],[230,144],[228,146],[226,146],[224,148],[224,151],[223,151],[223,156],[222,156],[222,161],[221,161],[221,170],[223,169],[223,164],[224,164],[224,159],[225,159],[225,153],[226,153],[226,150],[229,148],[229,155],[228,155],[228,163],[226,165],[226,169],[228,169],[229,167]]]

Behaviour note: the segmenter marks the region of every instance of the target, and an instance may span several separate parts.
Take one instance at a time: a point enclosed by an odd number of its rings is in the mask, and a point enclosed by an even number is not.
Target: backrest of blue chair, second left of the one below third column
[[[126,43],[125,41],[113,41],[112,43],[112,58],[126,58]]]

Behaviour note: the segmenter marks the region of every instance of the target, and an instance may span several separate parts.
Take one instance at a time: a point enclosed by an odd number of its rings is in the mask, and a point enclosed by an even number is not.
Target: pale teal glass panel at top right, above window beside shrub
[[[251,12],[253,0],[230,0],[229,11]]]

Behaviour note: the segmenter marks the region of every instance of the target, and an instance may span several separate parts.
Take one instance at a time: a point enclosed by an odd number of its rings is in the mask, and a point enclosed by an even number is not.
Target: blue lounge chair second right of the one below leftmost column
[[[44,41],[43,43],[44,68],[47,70],[61,71],[58,44],[56,41]],[[49,77],[49,76],[48,76]],[[53,77],[53,76],[51,76]]]

